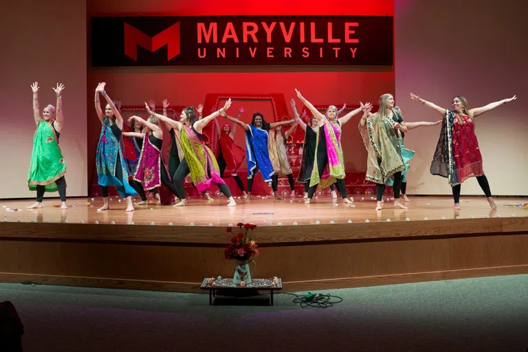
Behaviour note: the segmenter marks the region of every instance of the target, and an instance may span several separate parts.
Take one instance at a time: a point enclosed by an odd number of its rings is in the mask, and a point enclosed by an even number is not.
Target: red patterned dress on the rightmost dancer
[[[452,133],[452,148],[456,169],[459,172],[459,182],[470,177],[484,175],[481,150],[475,135],[475,125],[471,118],[460,115],[464,124],[455,118]]]

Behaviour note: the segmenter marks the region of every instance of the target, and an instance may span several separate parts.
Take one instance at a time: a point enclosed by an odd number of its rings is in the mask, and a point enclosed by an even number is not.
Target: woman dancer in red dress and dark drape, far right
[[[482,167],[482,155],[476,140],[474,118],[502,104],[511,102],[517,97],[513,96],[492,102],[484,107],[467,109],[467,100],[463,96],[456,96],[452,100],[452,110],[439,107],[412,93],[410,98],[430,107],[444,117],[430,171],[432,175],[439,175],[448,179],[453,192],[453,209],[460,209],[460,187],[463,181],[470,177],[476,177],[487,197],[489,206],[496,209],[497,206],[493,200],[492,192],[489,190],[489,183]]]

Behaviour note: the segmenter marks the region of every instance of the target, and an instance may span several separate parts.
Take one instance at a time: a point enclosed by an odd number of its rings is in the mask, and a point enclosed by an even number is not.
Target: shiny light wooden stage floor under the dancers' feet
[[[238,205],[228,208],[225,197],[214,201],[206,199],[189,199],[188,206],[173,208],[160,206],[149,200],[147,206],[136,206],[134,212],[124,212],[124,201],[114,197],[110,202],[111,210],[98,212],[102,199],[70,198],[70,208],[56,208],[59,199],[45,199],[41,209],[28,210],[25,206],[32,204],[31,199],[0,201],[0,221],[8,222],[50,222],[50,223],[115,223],[117,225],[173,225],[186,226],[227,226],[239,221],[256,223],[258,226],[275,225],[310,225],[333,223],[365,223],[385,221],[423,221],[439,219],[482,219],[486,217],[527,217],[528,209],[511,206],[527,203],[527,198],[496,198],[497,210],[491,210],[483,197],[462,197],[461,210],[452,209],[451,197],[410,197],[408,210],[396,209],[392,201],[386,201],[382,211],[376,211],[375,201],[371,196],[355,197],[355,207],[342,203],[341,199],[330,196],[314,198],[314,203],[305,205],[302,198],[285,198],[275,200],[272,197],[263,199],[254,196],[251,201],[236,199]],[[10,211],[20,209],[20,211]],[[366,221],[366,220],[369,221]]]

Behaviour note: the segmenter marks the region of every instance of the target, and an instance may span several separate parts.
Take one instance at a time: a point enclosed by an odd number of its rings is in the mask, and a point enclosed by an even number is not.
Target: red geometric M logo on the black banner
[[[137,61],[137,45],[155,52],[167,45],[167,60],[179,54],[179,22],[151,37],[128,23],[124,23],[124,54]]]

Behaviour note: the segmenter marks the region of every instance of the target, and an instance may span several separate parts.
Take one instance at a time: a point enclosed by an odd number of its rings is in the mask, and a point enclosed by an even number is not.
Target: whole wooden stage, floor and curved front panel
[[[225,197],[191,197],[188,206],[137,206],[124,212],[113,197],[1,201],[0,281],[199,292],[203,277],[232,276],[223,259],[225,227],[255,223],[255,278],[279,276],[286,291],[385,285],[446,278],[528,273],[527,199],[410,197],[376,211],[370,195],[354,206],[330,196],[254,196],[225,206]],[[20,211],[12,211],[20,209]],[[236,229],[235,229],[236,231]]]

